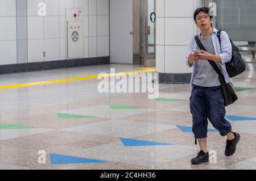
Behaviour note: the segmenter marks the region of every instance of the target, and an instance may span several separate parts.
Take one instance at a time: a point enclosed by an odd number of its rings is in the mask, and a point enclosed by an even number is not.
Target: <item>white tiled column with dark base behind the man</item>
[[[185,52],[199,31],[193,13],[201,0],[156,1],[156,71],[159,83],[189,83],[192,69],[185,65]]]

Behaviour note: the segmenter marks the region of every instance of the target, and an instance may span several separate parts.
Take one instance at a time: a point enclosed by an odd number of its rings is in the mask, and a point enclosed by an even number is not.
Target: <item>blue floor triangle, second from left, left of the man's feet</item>
[[[159,145],[174,145],[166,144],[164,142],[154,142],[154,141],[144,141],[144,140],[135,140],[130,138],[120,138],[125,146],[159,146]]]

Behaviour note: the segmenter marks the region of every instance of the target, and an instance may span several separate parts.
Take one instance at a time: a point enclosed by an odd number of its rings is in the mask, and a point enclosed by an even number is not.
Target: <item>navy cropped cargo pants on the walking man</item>
[[[221,86],[200,87],[193,85],[190,98],[195,138],[206,138],[208,119],[221,136],[226,136],[232,127],[225,119],[224,96]]]

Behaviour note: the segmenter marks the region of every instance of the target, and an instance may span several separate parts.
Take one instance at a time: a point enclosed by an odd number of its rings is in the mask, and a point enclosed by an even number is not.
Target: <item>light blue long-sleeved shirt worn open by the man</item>
[[[230,78],[229,78],[228,72],[226,71],[225,64],[229,62],[232,58],[232,45],[229,40],[229,36],[225,31],[221,31],[221,45],[220,45],[220,41],[218,41],[218,37],[217,37],[217,32],[218,30],[216,28],[213,28],[212,43],[213,43],[215,54],[218,54],[221,57],[221,62],[218,62],[218,64],[220,64],[222,74],[224,75],[226,83],[229,83]],[[198,35],[199,39],[201,39],[200,35],[201,33]],[[192,89],[192,83],[194,82],[194,78],[196,77],[196,72],[197,72],[196,62],[194,61],[191,66],[189,66],[189,62],[188,62],[188,56],[191,53],[192,49],[197,49],[195,37],[193,37],[192,40],[190,41],[188,45],[188,50],[185,56],[187,66],[193,67],[192,77],[190,82],[191,89]]]

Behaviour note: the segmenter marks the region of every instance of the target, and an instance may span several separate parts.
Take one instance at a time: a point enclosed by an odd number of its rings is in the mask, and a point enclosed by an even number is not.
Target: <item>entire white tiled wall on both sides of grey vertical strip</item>
[[[0,65],[16,64],[16,0],[0,5]],[[109,56],[109,0],[27,0],[28,62],[65,60],[65,9],[83,10],[84,57]]]

